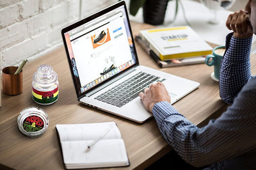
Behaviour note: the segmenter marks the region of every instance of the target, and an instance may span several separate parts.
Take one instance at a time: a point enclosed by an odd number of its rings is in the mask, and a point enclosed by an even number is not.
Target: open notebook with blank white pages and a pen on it
[[[56,128],[67,169],[129,166],[124,140],[115,122],[56,125]]]

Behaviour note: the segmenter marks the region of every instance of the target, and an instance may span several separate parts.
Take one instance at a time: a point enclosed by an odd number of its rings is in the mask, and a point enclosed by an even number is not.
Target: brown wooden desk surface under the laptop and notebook
[[[134,35],[140,29],[152,26],[132,23]],[[181,77],[200,82],[200,87],[174,104],[174,107],[198,125],[225,106],[218,91],[218,82],[211,79],[213,67],[205,64],[159,68],[139,45],[136,45],[141,65],[150,66]],[[42,64],[51,65],[58,73],[60,97],[52,105],[38,105],[31,99],[33,73]],[[0,107],[0,164],[13,169],[65,169],[56,124],[96,123],[115,121],[125,141],[131,166],[122,169],[143,169],[171,150],[161,136],[156,121],[134,123],[124,118],[98,111],[79,104],[72,83],[64,47],[31,61],[23,70],[23,93],[17,96],[3,95]],[[17,116],[22,109],[36,106],[49,115],[49,127],[44,135],[35,139],[19,132]],[[120,167],[118,168],[120,169]]]

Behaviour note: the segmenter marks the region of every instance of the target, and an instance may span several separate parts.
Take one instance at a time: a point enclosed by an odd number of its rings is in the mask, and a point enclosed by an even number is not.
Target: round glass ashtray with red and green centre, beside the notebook
[[[22,134],[28,137],[38,137],[47,130],[49,118],[43,109],[27,107],[20,112],[17,123]]]

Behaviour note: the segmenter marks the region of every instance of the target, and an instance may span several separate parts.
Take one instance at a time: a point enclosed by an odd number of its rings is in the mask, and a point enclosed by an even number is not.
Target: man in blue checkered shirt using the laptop
[[[198,128],[170,105],[164,84],[140,93],[153,112],[164,139],[189,164],[207,169],[256,168],[256,77],[250,72],[252,35],[256,33],[256,0],[228,16],[226,52],[221,61],[220,97],[232,104],[217,120]]]

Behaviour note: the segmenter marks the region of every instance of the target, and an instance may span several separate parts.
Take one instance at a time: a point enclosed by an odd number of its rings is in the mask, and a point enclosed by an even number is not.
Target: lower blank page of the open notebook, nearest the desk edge
[[[129,164],[123,139],[100,140],[88,150],[92,141],[65,141],[61,144],[68,167],[106,167]]]

